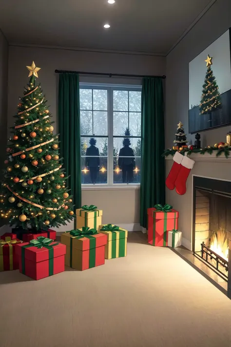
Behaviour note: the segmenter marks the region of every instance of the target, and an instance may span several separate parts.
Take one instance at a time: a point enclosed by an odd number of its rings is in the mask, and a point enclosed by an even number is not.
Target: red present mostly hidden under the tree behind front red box
[[[30,242],[30,240],[37,239],[39,236],[47,237],[52,240],[56,239],[56,231],[46,227],[40,230],[22,229],[21,227],[12,228],[12,233],[15,233],[17,238],[24,242]]]

